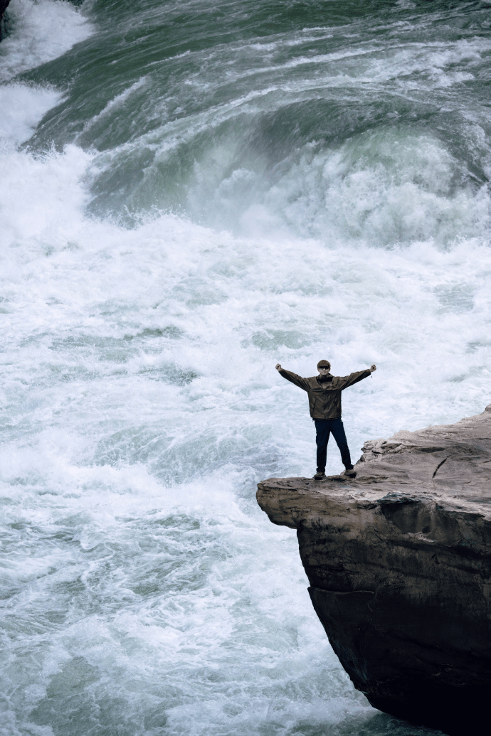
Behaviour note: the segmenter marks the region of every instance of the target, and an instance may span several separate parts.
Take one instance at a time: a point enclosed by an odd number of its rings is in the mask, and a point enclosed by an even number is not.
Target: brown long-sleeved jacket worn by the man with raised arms
[[[350,375],[328,374],[328,381],[319,381],[317,376],[302,378],[292,371],[282,368],[278,371],[287,381],[292,381],[308,394],[308,408],[312,419],[339,419],[341,417],[341,392],[353,383],[363,381],[370,375],[369,370],[358,370]]]

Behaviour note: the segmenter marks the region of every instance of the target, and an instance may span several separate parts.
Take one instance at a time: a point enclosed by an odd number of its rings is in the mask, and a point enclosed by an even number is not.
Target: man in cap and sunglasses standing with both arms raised
[[[319,361],[317,370],[319,375],[314,378],[302,378],[296,373],[285,370],[276,364],[275,368],[287,381],[292,381],[308,394],[308,406],[311,417],[315,422],[317,431],[317,473],[314,475],[316,481],[325,478],[325,459],[328,454],[329,435],[333,433],[336,445],[341,453],[342,464],[345,471],[342,475],[354,478],[356,473],[351,464],[350,450],[347,446],[345,428],[341,420],[341,392],[348,386],[353,386],[358,381],[363,381],[370,373],[377,369],[375,364],[365,370],[356,371],[345,376],[334,376],[329,372],[331,363]]]

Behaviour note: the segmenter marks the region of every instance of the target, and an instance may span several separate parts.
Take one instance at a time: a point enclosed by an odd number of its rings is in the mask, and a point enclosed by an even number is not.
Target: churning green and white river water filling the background
[[[491,6],[12,0],[0,44],[1,736],[427,735],[255,503],[491,401]],[[340,470],[330,447],[328,470]]]

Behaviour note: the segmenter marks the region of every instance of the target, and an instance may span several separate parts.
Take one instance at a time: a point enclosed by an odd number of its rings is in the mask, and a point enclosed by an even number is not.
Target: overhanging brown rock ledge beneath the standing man
[[[314,609],[379,710],[481,733],[491,692],[491,405],[366,442],[356,479],[270,478],[269,519],[297,529]]]

